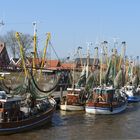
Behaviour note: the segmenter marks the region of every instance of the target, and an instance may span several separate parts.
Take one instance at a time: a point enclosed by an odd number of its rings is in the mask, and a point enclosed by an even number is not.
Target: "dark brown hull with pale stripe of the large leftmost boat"
[[[54,110],[55,107],[52,107],[42,114],[21,121],[1,122],[0,135],[19,133],[41,127],[46,123],[51,122]]]

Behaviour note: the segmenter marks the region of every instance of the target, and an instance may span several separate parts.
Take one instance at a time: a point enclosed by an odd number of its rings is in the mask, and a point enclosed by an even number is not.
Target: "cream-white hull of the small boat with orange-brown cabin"
[[[60,109],[64,111],[82,111],[84,110],[83,105],[60,105]]]

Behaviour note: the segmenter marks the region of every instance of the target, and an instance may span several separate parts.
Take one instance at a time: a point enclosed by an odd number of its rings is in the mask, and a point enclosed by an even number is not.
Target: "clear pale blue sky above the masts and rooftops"
[[[114,40],[126,41],[127,55],[140,52],[140,0],[0,0],[0,35],[18,31],[33,35],[37,22],[38,49],[45,46],[46,33],[59,58],[73,55],[78,46],[86,54],[104,40],[113,48]],[[114,39],[115,38],[115,39]]]

